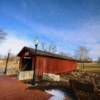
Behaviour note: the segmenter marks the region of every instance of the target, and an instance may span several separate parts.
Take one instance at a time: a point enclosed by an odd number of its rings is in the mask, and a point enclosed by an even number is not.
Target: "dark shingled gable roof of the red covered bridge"
[[[29,52],[31,55],[34,55],[35,49],[30,48],[30,47],[24,47],[17,56],[21,56],[24,52]],[[47,51],[42,51],[42,50],[37,50],[37,55],[39,56],[47,56],[47,57],[53,57],[53,58],[59,58],[59,59],[69,59],[69,60],[75,60],[72,57],[60,55],[60,54],[55,54]]]

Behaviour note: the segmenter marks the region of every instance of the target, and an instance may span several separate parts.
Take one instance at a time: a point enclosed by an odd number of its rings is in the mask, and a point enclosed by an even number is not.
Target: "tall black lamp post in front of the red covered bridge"
[[[32,84],[35,85],[36,83],[36,62],[37,62],[37,47],[38,47],[38,40],[34,41],[35,44],[35,51],[34,51],[34,74],[33,74],[33,79],[32,79]]]

